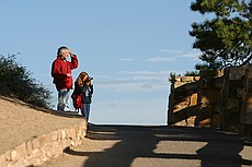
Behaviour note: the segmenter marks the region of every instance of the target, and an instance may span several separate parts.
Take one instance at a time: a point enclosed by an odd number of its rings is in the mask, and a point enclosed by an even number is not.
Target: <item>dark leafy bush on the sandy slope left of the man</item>
[[[0,56],[0,94],[25,103],[50,108],[51,92],[31,77],[31,72],[16,61],[16,55]]]

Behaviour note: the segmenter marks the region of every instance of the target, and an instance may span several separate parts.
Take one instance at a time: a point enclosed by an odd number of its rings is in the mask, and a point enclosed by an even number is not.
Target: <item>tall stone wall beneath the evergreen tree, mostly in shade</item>
[[[210,127],[252,136],[252,67],[176,76],[171,84],[168,124]]]

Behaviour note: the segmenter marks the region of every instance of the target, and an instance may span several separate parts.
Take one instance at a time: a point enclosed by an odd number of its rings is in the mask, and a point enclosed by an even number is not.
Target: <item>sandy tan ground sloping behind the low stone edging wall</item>
[[[0,155],[35,136],[78,124],[81,119],[76,114],[43,110],[0,97]]]

